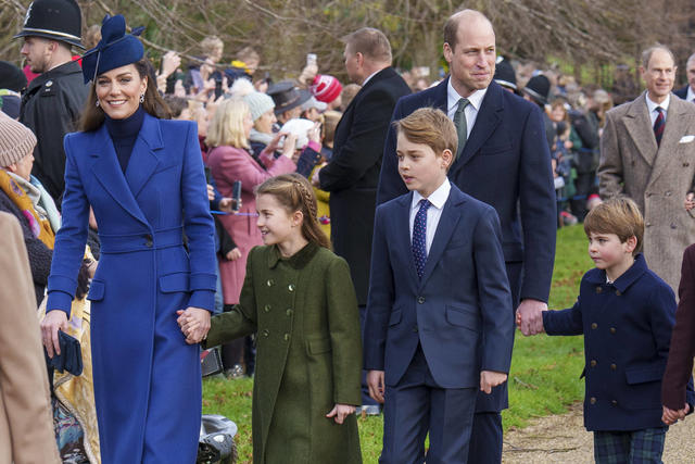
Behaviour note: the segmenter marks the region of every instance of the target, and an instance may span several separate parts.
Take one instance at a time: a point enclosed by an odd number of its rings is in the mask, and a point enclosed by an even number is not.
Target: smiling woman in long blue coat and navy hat
[[[55,238],[41,325],[49,355],[70,316],[89,206],[101,259],[91,283],[91,347],[104,464],[195,462],[201,415],[198,346],[176,323],[185,310],[210,327],[213,220],[195,125],[164,121],[142,43],[104,18],[83,59],[93,80],[81,131],[68,134],[63,225]],[[184,235],[187,246],[184,246]]]

